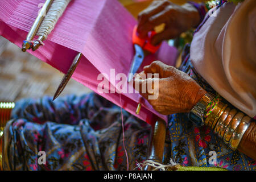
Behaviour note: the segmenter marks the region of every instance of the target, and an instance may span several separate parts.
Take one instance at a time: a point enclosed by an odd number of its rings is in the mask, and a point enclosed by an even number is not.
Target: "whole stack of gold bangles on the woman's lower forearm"
[[[230,148],[236,150],[250,121],[249,116],[218,101],[214,110],[205,118],[204,125],[210,127]]]

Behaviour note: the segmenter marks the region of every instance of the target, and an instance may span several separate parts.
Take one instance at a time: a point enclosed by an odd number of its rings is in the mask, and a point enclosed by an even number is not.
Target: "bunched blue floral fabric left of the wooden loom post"
[[[4,133],[6,170],[123,170],[121,110],[97,94],[25,99]],[[150,126],[123,110],[130,169],[146,157]],[[38,164],[38,152],[46,164]]]

